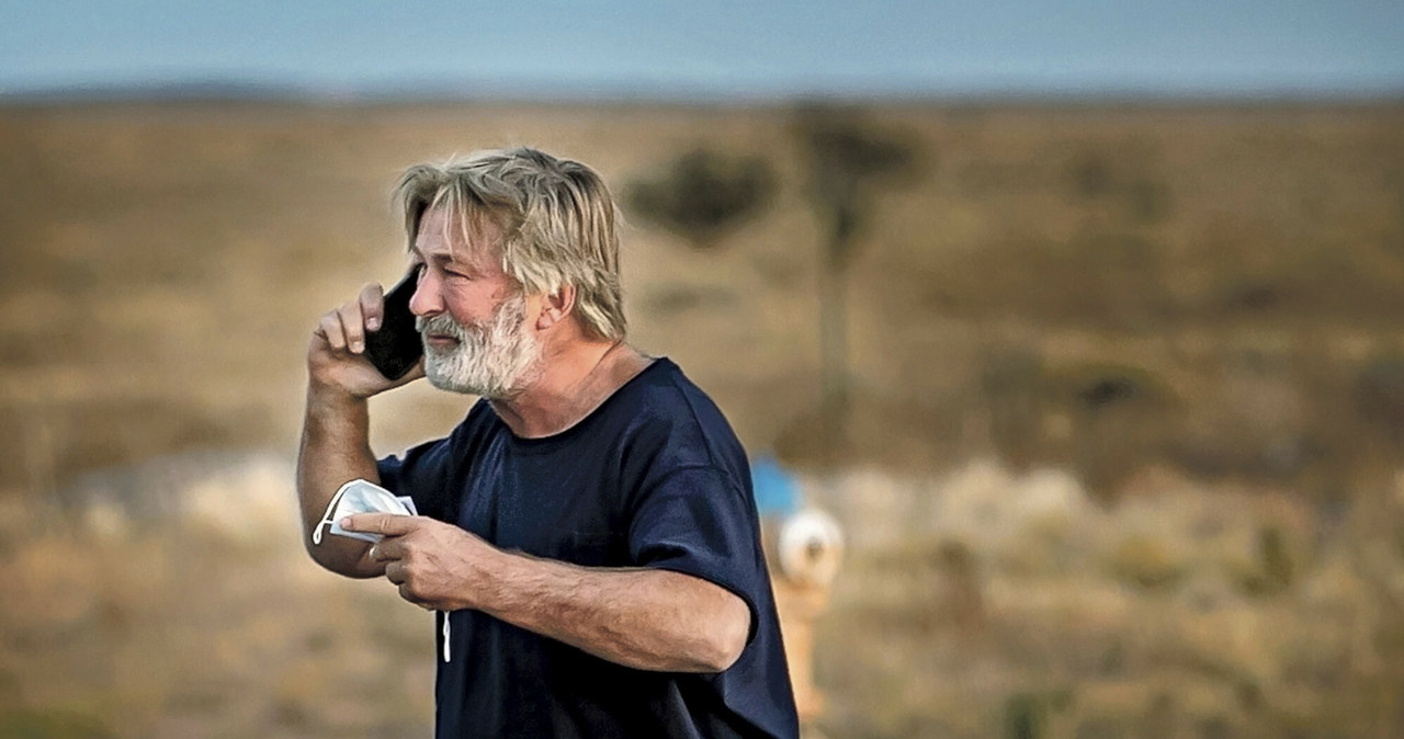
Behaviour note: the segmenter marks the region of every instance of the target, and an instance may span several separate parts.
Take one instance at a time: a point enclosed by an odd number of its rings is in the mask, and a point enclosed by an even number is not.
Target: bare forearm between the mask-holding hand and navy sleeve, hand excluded
[[[750,631],[750,609],[740,597],[680,572],[584,568],[503,552],[486,590],[480,610],[644,670],[724,670]]]

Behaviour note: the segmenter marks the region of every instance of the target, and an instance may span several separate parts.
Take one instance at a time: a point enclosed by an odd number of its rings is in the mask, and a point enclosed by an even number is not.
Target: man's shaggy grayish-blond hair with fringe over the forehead
[[[490,219],[503,231],[503,272],[532,294],[573,286],[585,331],[623,338],[616,208],[590,167],[526,147],[477,151],[410,167],[396,199],[411,247],[430,208],[446,206],[465,241],[469,226]]]

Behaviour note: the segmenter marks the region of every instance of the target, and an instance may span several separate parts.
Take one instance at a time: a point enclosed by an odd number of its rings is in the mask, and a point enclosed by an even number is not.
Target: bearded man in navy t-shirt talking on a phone
[[[437,736],[795,736],[746,454],[667,359],[625,344],[615,205],[531,149],[406,172],[424,360],[364,358],[382,294],[322,317],[298,461],[319,564],[438,611]],[[366,398],[427,376],[480,395],[446,439],[376,461]],[[313,531],[366,478],[423,516]]]

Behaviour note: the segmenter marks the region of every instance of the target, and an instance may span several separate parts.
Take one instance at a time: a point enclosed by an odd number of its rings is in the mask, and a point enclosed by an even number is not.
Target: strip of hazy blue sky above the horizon
[[[0,0],[0,94],[1401,94],[1404,0]]]

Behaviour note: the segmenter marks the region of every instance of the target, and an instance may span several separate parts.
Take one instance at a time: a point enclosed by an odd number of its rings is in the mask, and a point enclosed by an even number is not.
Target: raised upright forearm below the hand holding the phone
[[[303,544],[322,567],[343,575],[373,578],[383,565],[365,557],[365,541],[323,536],[320,544],[312,534],[326,515],[331,496],[348,480],[379,482],[375,456],[369,443],[369,416],[365,398],[310,386],[298,450],[298,501],[302,510]]]

